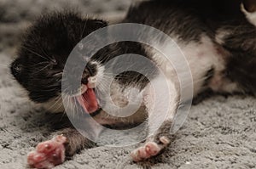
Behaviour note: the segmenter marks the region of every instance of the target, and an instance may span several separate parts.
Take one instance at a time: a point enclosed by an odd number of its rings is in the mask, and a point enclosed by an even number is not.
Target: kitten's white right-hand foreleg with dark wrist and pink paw
[[[152,105],[162,104],[162,101],[168,100],[165,98],[166,91],[161,91],[162,93],[160,93],[160,95],[162,95],[163,98],[160,100],[153,100],[154,94],[152,93],[152,91],[149,93],[147,92],[145,104],[148,108],[149,136],[143,146],[131,152],[131,157],[133,161],[143,161],[152,156],[159,155],[160,152],[162,152],[162,150],[171,143],[172,120],[177,111],[179,97],[177,95],[177,90],[172,82],[170,82],[168,86],[171,97],[169,103],[170,106],[167,113],[165,109],[160,108],[155,110],[154,108],[152,108]]]

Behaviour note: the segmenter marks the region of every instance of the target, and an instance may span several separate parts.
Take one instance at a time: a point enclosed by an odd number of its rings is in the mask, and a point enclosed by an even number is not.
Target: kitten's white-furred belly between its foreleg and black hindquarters
[[[223,75],[225,58],[227,57],[224,49],[219,49],[220,47],[215,45],[207,36],[202,36],[200,42],[189,42],[187,44],[180,41],[176,42],[189,64],[194,85],[194,96],[207,88],[212,88],[213,91],[218,92],[236,91],[236,84],[225,79]],[[170,78],[170,81],[175,82],[177,89],[179,89],[176,70],[172,67],[172,64],[158,52],[152,50],[148,52],[154,53],[153,59],[160,65],[160,69]],[[178,65],[177,62],[183,57],[177,48],[167,48],[167,45],[164,53],[175,54],[175,65]],[[183,76],[183,78],[189,78],[190,74],[185,72],[186,70],[183,67],[185,66],[179,65],[179,69],[183,69],[184,75],[187,76]],[[212,70],[211,75],[207,75],[209,70]]]

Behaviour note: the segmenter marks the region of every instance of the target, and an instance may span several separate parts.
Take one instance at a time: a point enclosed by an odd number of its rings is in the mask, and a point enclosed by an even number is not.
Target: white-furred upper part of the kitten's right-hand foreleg
[[[148,134],[154,135],[164,121],[172,121],[176,114],[178,92],[171,79],[157,76],[145,88],[144,104],[148,110]]]

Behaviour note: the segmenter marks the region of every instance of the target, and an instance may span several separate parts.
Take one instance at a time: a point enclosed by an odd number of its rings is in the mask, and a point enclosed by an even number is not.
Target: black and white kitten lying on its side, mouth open
[[[172,37],[189,62],[194,96],[207,89],[217,93],[256,92],[255,1],[147,1],[131,7],[120,23],[150,25]],[[82,38],[107,25],[104,20],[82,18],[73,13],[44,15],[26,32],[18,58],[11,65],[12,74],[26,88],[32,101],[53,112],[64,111],[60,99],[61,79],[67,57]],[[165,42],[160,45],[168,46]],[[94,48],[93,43],[87,48]],[[176,54],[172,48],[166,48],[166,53]],[[115,78],[117,85],[113,88],[112,97],[118,104],[123,104],[122,102],[127,102],[125,89],[137,87],[144,96],[142,106],[145,109],[142,114],[131,115],[126,119],[118,118],[108,115],[98,107],[94,88],[104,90],[101,86],[104,64],[121,54],[140,54],[150,59],[168,77],[170,109],[161,126],[158,116],[166,112],[153,109],[152,106],[158,103],[155,103],[157,100],[154,102],[150,83],[145,76],[136,72],[127,71]],[[178,59],[182,56],[177,53],[176,57]],[[158,72],[154,65],[148,70],[148,74],[153,81],[158,82]],[[180,104],[178,80],[172,65],[154,48],[138,42],[117,42],[103,48],[86,65],[79,89],[82,90],[78,97],[80,106],[102,125],[131,126],[145,119],[148,121],[148,139],[143,146],[131,152],[133,161],[143,161],[159,155],[171,143],[170,129]],[[92,128],[94,129],[97,130]],[[58,133],[55,138],[38,144],[37,149],[28,155],[30,166],[51,168],[80,149],[95,145],[73,127]]]

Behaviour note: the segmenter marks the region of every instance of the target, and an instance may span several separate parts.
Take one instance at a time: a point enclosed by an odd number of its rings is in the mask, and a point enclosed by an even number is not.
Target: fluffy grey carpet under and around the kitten
[[[8,65],[27,23],[64,1],[0,0],[0,168],[26,168],[26,154],[44,141],[47,114],[30,103],[9,75]],[[124,14],[129,1],[69,1],[84,13]],[[56,169],[75,168],[256,168],[256,99],[215,96],[193,106],[176,139],[163,155],[135,164],[134,146],[83,150]]]

